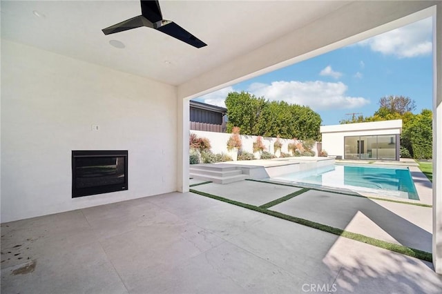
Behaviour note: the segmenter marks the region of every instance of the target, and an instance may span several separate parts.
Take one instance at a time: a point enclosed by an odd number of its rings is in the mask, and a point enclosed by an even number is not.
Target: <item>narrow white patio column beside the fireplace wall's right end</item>
[[[189,192],[189,99],[177,97],[177,191]]]

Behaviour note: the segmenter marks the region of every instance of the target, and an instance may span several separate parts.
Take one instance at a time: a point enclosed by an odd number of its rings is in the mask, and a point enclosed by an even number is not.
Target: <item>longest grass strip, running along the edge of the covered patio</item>
[[[234,201],[234,200],[227,199],[227,198],[224,198],[224,197],[212,195],[212,194],[209,194],[209,193],[200,192],[198,190],[190,189],[190,192],[198,194],[198,195],[202,195],[202,196],[205,196],[205,197],[209,197],[209,198],[212,198],[212,199],[217,199],[217,200],[220,200],[222,202],[227,202],[229,204],[233,204],[233,205],[236,205],[236,206],[241,206],[243,208],[247,208],[247,209],[250,209],[250,210],[255,210],[255,211],[259,212],[259,213],[265,213],[266,215],[271,215],[273,217],[278,217],[280,219],[285,219],[285,220],[287,220],[289,222],[294,222],[296,224],[301,224],[303,226],[309,226],[310,228],[316,228],[316,229],[318,229],[320,231],[324,231],[324,232],[327,232],[327,233],[332,233],[334,235],[345,237],[347,239],[352,239],[352,240],[355,240],[355,241],[358,241],[358,242],[363,242],[365,244],[369,244],[369,245],[376,246],[376,247],[379,247],[379,248],[387,249],[389,251],[394,251],[396,253],[401,253],[403,255],[408,255],[408,256],[411,256],[411,257],[418,258],[418,259],[422,259],[422,260],[425,260],[427,262],[432,262],[432,254],[431,253],[426,252],[426,251],[421,251],[421,250],[416,249],[416,248],[411,248],[411,247],[407,247],[407,246],[403,246],[403,245],[398,245],[398,244],[392,244],[392,243],[389,243],[389,242],[385,242],[383,240],[375,239],[375,238],[372,238],[372,237],[367,237],[365,235],[361,235],[361,234],[358,234],[358,233],[352,233],[352,232],[349,232],[349,231],[345,231],[345,230],[342,230],[340,228],[334,228],[333,226],[327,226],[325,224],[320,224],[318,222],[312,222],[312,221],[309,221],[308,219],[302,219],[300,217],[294,217],[294,216],[291,216],[291,215],[285,215],[284,213],[278,213],[278,211],[268,210],[268,209],[265,209],[265,208],[260,208],[258,206],[254,206],[254,205],[251,205],[251,204],[245,204],[245,203]]]

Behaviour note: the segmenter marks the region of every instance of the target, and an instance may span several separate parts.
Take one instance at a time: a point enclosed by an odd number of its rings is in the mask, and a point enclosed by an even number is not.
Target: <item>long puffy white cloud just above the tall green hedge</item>
[[[271,84],[254,83],[249,92],[269,100],[310,106],[314,110],[358,108],[369,104],[363,97],[345,95],[347,86],[342,82],[324,81],[273,81]]]

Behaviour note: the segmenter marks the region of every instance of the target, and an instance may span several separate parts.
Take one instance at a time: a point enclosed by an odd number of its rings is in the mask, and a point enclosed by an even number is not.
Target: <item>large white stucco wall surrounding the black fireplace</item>
[[[176,190],[175,87],[6,40],[1,86],[1,222]],[[128,150],[128,190],[73,199],[71,150]]]

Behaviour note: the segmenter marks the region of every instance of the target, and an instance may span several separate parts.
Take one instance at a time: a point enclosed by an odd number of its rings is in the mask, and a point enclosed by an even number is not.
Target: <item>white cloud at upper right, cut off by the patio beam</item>
[[[428,55],[432,52],[432,18],[416,21],[382,35],[357,43],[375,52],[398,58]]]

